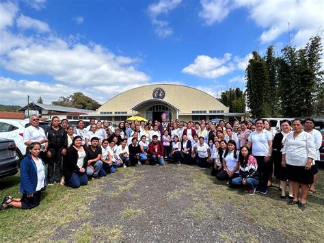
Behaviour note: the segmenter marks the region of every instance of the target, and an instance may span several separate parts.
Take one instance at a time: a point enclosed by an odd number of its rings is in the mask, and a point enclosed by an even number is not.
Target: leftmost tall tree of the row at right
[[[265,60],[258,52],[252,52],[252,59],[249,60],[245,71],[247,81],[247,105],[254,117],[265,117],[270,114],[269,105],[269,75]]]

